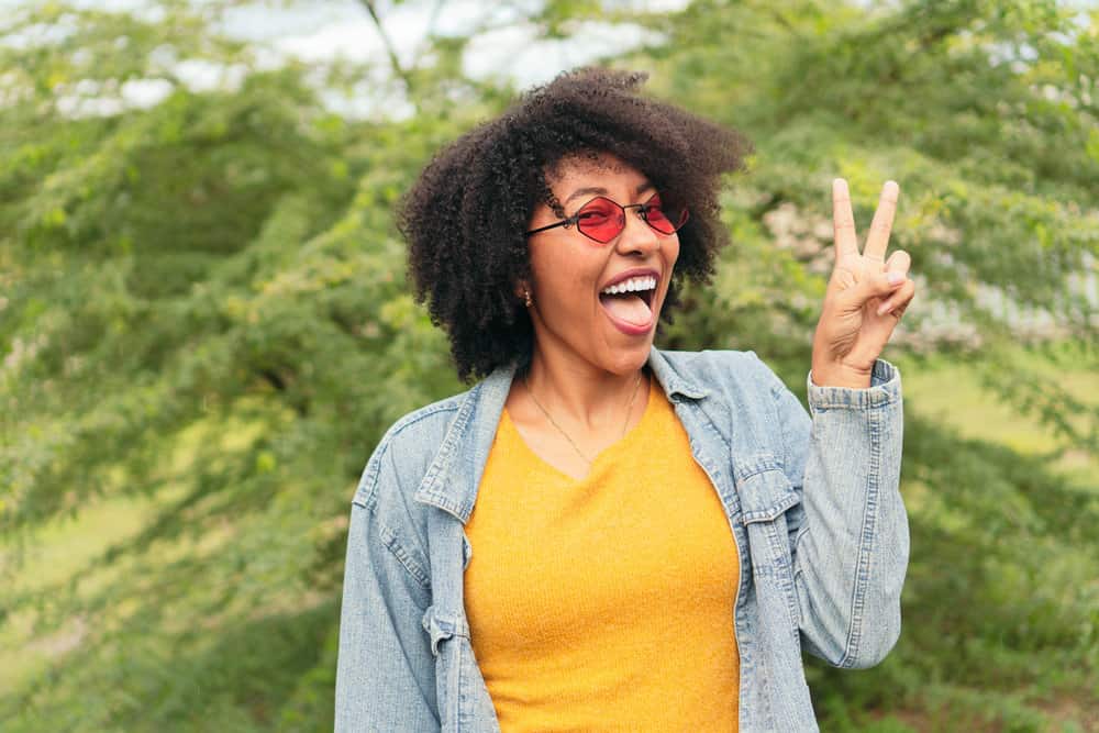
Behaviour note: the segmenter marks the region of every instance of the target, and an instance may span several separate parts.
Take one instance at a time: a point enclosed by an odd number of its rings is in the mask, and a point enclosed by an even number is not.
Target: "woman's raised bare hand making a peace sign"
[[[891,180],[881,188],[866,246],[859,254],[847,181],[836,178],[832,182],[835,267],[813,336],[815,385],[869,387],[874,362],[915,295],[915,284],[908,279],[908,253],[898,249],[885,258],[898,191]]]

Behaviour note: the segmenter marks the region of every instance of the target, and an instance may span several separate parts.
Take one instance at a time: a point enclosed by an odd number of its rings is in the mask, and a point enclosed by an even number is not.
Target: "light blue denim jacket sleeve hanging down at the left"
[[[430,575],[399,534],[401,502],[379,455],[352,504],[344,569],[335,731],[437,731],[434,656],[421,626]]]

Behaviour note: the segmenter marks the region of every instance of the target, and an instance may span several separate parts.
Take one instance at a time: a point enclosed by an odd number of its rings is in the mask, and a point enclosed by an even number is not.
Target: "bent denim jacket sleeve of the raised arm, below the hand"
[[[900,635],[908,569],[900,373],[878,359],[867,389],[806,381],[811,418],[785,386],[777,397],[785,470],[802,499],[790,532],[801,640],[833,666],[870,667]]]

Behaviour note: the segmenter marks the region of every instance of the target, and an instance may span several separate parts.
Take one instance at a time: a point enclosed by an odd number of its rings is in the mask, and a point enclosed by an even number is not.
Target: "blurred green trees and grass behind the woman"
[[[5,733],[330,730],[356,479],[396,418],[463,388],[392,209],[514,93],[462,71],[489,30],[379,77],[269,63],[219,30],[241,4],[0,20]],[[801,393],[829,181],[864,227],[901,182],[904,629],[872,670],[810,662],[823,730],[1099,731],[1099,10],[637,4],[512,22],[650,29],[604,63],[755,143],[723,193],[733,244],[663,346],[753,348]],[[235,81],[195,88],[182,62]],[[164,99],[127,104],[149,80]],[[324,102],[364,89],[411,113]]]

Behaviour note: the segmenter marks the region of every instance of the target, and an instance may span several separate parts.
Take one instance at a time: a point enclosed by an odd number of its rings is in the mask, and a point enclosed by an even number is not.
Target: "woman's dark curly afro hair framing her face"
[[[446,330],[463,380],[530,358],[534,332],[515,284],[530,278],[525,231],[535,204],[565,216],[547,182],[565,158],[609,153],[688,203],[662,320],[670,322],[684,278],[709,281],[728,241],[718,220],[720,176],[743,166],[748,143],[641,97],[646,78],[587,68],[533,88],[442,149],[401,201],[417,300]]]

